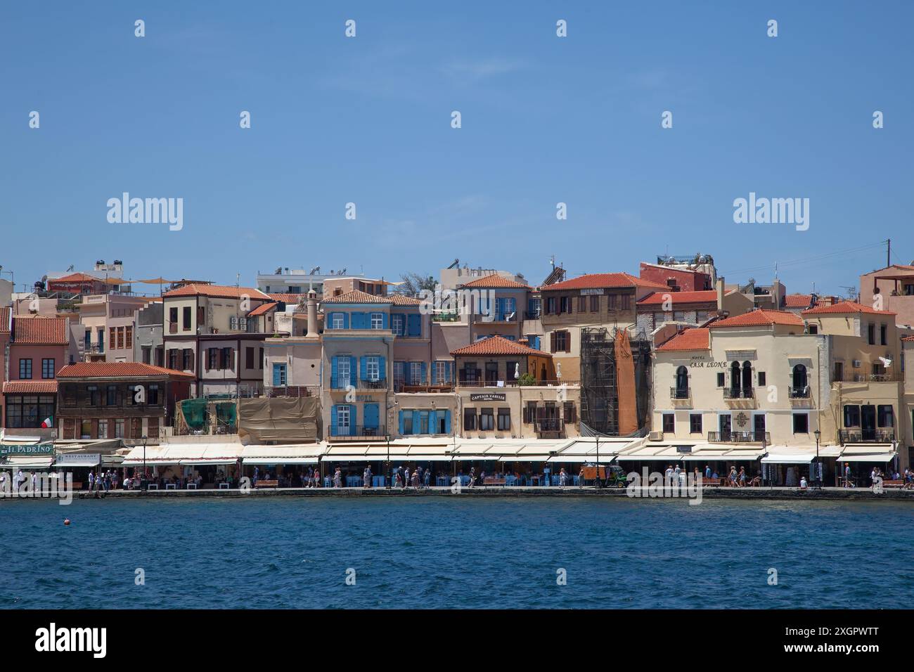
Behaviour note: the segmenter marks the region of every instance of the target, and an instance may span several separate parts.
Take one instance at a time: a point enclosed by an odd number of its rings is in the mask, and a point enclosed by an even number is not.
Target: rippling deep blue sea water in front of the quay
[[[889,502],[14,501],[0,504],[0,606],[887,607],[914,581],[912,522]]]

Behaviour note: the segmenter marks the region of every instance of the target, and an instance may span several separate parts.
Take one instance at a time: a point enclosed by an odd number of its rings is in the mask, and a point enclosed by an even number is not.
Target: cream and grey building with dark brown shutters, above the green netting
[[[270,296],[250,287],[186,284],[163,295],[165,366],[196,376],[198,397],[263,388],[263,341],[250,313]]]

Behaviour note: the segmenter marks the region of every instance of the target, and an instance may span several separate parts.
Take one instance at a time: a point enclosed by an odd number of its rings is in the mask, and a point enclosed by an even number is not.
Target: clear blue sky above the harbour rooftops
[[[5,3],[0,264],[250,284],[459,257],[538,283],[551,254],[702,251],[728,282],[818,257],[781,280],[841,293],[881,240],[914,259],[911,26],[910,2]],[[108,223],[123,191],[183,197],[184,229]],[[734,224],[750,191],[809,197],[810,229]]]

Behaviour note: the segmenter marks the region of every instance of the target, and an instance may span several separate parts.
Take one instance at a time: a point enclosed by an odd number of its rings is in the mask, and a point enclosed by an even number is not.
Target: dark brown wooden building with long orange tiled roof
[[[58,436],[61,439],[147,437],[157,443],[175,417],[175,402],[188,399],[195,377],[138,362],[71,364],[58,372]]]

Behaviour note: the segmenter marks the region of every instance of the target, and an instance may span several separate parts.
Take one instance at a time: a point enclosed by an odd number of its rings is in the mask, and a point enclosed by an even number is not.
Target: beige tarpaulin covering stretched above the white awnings
[[[250,434],[251,443],[317,441],[318,412],[316,397],[239,399],[239,434]]]

